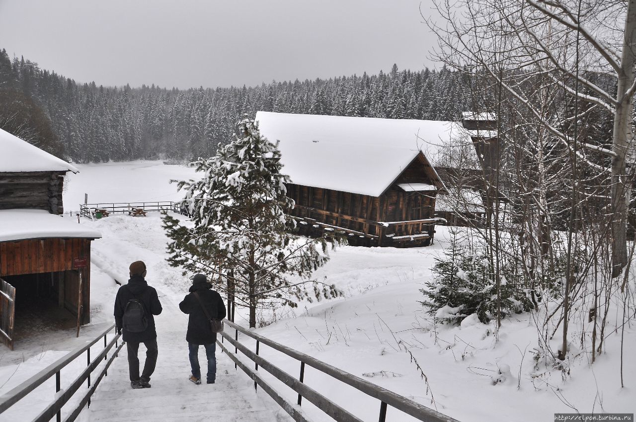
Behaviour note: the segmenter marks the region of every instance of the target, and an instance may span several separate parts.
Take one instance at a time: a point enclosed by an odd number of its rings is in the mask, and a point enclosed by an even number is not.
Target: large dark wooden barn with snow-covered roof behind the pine
[[[457,123],[262,111],[256,121],[262,135],[280,141],[302,234],[338,231],[352,245],[432,242],[445,186],[430,160]]]

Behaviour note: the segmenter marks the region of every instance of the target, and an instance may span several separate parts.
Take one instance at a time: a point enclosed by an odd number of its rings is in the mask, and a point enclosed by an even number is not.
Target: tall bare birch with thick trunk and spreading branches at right
[[[523,106],[520,114],[527,122],[539,123],[583,166],[611,176],[612,277],[618,277],[627,262],[634,162],[636,0],[439,0],[436,8],[441,21],[428,23],[439,34],[439,59],[493,79]],[[594,75],[614,81],[616,93],[595,83]],[[580,100],[575,114],[542,110],[542,93],[556,89]],[[577,144],[567,128],[596,109],[612,116],[611,144]]]

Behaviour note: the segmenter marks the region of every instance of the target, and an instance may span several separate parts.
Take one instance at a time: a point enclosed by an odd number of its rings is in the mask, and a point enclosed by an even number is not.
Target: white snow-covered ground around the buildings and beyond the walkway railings
[[[73,209],[73,201],[83,201],[85,192],[89,202],[176,200],[179,194],[167,180],[193,177],[189,168],[148,161],[78,167],[80,173],[71,177],[65,193],[67,210]],[[165,262],[167,239],[157,214],[146,218],[111,215],[82,224],[102,233],[102,238],[93,242],[92,323],[83,328],[84,339],[113,320],[112,303],[118,287],[113,278],[127,280],[132,261],[146,262],[147,279],[160,290],[162,301],[172,305],[181,301],[190,282],[179,269]],[[314,276],[334,283],[345,297],[303,302],[295,310],[265,315],[263,318],[272,323],[258,332],[461,421],[546,421],[553,419],[555,412],[635,411],[636,329],[625,330],[626,386],[621,388],[620,332],[611,332],[619,324],[619,317],[612,320],[607,331],[610,334],[604,354],[593,365],[586,353],[579,354],[570,364],[569,375],[534,367],[532,349],[537,343],[537,330],[528,314],[504,320],[499,341],[494,339],[493,327],[482,323],[435,325],[418,303],[423,300],[419,290],[431,277],[434,259],[447,242],[448,231],[438,228],[436,243],[427,248],[342,247],[332,252],[331,261]],[[247,325],[240,309],[237,322]],[[166,312],[156,318],[156,324],[162,336],[162,330],[174,333],[179,324],[184,330],[186,318]],[[18,342],[13,352],[3,351],[0,394],[82,340],[74,339],[74,333],[62,332],[44,340],[48,343],[33,339]],[[298,375],[298,362],[265,346],[260,353]],[[187,367],[185,351],[183,360],[181,364]],[[244,376],[243,382],[249,383],[249,379]],[[378,418],[378,400],[364,397],[314,369],[306,369],[305,383],[363,420]],[[280,385],[279,391],[295,402],[291,390]],[[41,400],[47,394],[40,395]],[[34,400],[27,397],[15,407],[19,410]],[[330,420],[308,402],[303,401],[303,409],[315,421]],[[84,416],[90,419],[90,415]],[[413,419],[389,407],[387,420]]]

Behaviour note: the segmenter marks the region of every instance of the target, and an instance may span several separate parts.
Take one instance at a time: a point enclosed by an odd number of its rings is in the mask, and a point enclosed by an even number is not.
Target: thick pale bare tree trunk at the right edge
[[[621,69],[618,73],[616,91],[616,111],[614,112],[614,131],[612,134],[612,278],[618,277],[627,264],[627,207],[632,190],[631,178],[627,177],[627,165],[633,164],[633,152],[630,151],[633,141],[632,117],[633,94],[626,96],[634,83],[634,65],[636,56],[636,0],[627,4],[625,32],[623,34],[623,52]],[[628,163],[629,161],[629,163]],[[632,169],[630,169],[632,171]]]

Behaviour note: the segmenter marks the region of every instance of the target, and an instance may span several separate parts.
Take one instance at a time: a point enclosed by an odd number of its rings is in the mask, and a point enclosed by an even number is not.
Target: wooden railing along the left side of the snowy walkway
[[[42,371],[38,372],[38,374],[35,374],[20,385],[16,386],[15,388],[13,388],[13,390],[10,390],[0,396],[0,419],[3,419],[2,414],[4,411],[9,409],[12,405],[17,403],[18,400],[24,398],[27,394],[31,393],[31,391],[35,390],[39,385],[42,385],[43,383],[45,383],[45,381],[55,375],[55,391],[57,393],[55,395],[55,399],[48,406],[46,406],[46,408],[41,411],[33,420],[41,422],[50,421],[50,419],[57,415],[56,419],[58,422],[60,422],[62,420],[62,406],[64,406],[64,404],[66,404],[71,397],[78,393],[81,395],[79,404],[77,404],[76,407],[74,407],[73,411],[70,412],[69,416],[64,419],[67,422],[74,421],[79,416],[79,412],[82,411],[84,405],[90,405],[90,398],[92,397],[93,393],[95,393],[95,389],[99,385],[102,378],[107,375],[108,368],[113,363],[114,358],[117,357],[119,351],[121,350],[121,347],[124,344],[122,342],[118,345],[119,338],[121,337],[120,334],[115,334],[111,341],[107,341],[106,336],[114,330],[114,327],[115,325],[113,323],[113,325],[104,330],[101,334],[99,334],[99,336],[95,337],[95,339],[90,341],[90,343],[86,344],[85,346],[81,346],[80,348],[72,351],[63,358],[60,358],[60,360],[54,362],[46,369],[43,369]],[[102,338],[104,339],[104,348],[102,349],[102,351],[100,351],[97,357],[95,357],[93,360],[90,360],[91,346],[100,341],[100,339]],[[114,353],[112,353],[111,357],[108,358],[108,352],[113,348],[113,346]],[[79,374],[79,376],[74,379],[74,381],[70,385],[66,386],[66,388],[62,390],[60,371],[62,371],[62,369],[67,365],[71,364],[71,362],[73,362],[82,353],[86,353],[86,369],[82,371],[81,374]],[[95,379],[95,381],[91,384],[90,376],[93,371],[97,369],[102,360],[106,361],[106,365],[104,365],[99,374],[97,374],[97,378]],[[86,381],[87,389],[84,391],[79,391],[79,388],[84,383],[84,381]],[[60,390],[62,390],[61,393]]]

